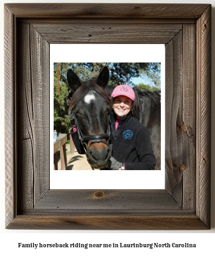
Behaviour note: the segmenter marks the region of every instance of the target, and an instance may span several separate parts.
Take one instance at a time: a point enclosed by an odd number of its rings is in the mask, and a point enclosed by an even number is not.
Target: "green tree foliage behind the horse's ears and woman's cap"
[[[154,88],[160,88],[160,63],[58,63],[58,70],[57,63],[54,63],[54,129],[57,132],[69,133],[70,128],[68,104],[65,102],[69,92],[66,79],[68,69],[71,68],[83,81],[97,78],[103,66],[108,66],[110,71],[109,85],[134,86],[132,78],[147,77],[154,83]],[[147,85],[139,84],[138,86]]]

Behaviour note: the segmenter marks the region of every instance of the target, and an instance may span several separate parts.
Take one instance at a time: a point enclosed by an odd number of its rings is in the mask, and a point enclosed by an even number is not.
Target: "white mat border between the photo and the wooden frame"
[[[71,48],[73,51],[71,51]],[[101,52],[102,54],[95,54]],[[81,52],[81,54],[80,54]],[[126,52],[126,54],[125,54]],[[50,189],[164,189],[165,187],[165,46],[164,45],[50,45],[50,152],[53,152],[53,63],[122,62],[161,63],[161,171],[53,170],[50,154]],[[96,177],[93,179],[92,177]],[[114,177],[114,178],[113,178]],[[89,182],[90,180],[90,182]]]

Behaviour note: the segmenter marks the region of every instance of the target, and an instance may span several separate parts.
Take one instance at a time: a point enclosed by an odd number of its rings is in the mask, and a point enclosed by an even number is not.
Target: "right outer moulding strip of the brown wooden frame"
[[[210,225],[211,6],[197,22],[197,214]]]

